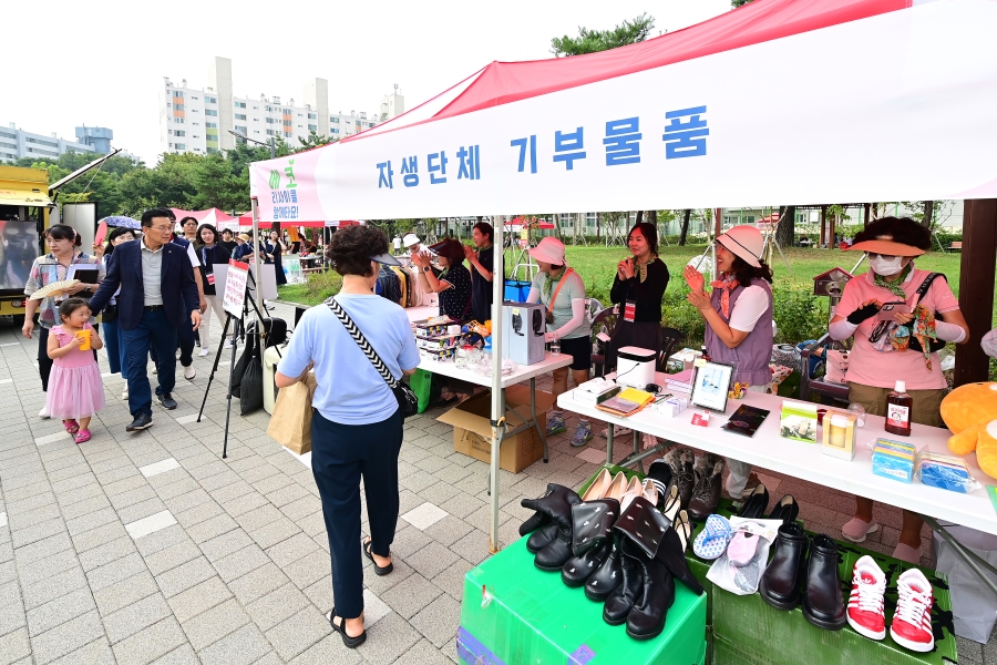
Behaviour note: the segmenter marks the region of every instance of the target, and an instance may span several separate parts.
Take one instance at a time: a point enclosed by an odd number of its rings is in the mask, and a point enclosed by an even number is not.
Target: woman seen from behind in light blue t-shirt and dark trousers
[[[395,379],[415,372],[419,351],[404,309],[374,294],[379,264],[399,265],[388,236],[373,226],[348,226],[332,235],[328,258],[342,275],[335,296]],[[354,648],[363,631],[363,555],[374,573],[393,570],[390,545],[398,522],[398,454],[402,415],[398,400],[339,318],[312,307],[295,328],[277,366],[287,388],[315,368],[311,470],[322,500],[332,557],[336,606],[329,617],[343,644]],[[370,538],[360,541],[360,480],[367,497]],[[360,546],[358,546],[360,545]]]

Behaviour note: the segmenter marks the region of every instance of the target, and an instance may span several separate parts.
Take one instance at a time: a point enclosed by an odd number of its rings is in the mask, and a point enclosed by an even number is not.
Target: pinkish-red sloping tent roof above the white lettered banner
[[[492,62],[433,100],[357,141],[411,124],[452,117],[558,90],[702,58],[793,34],[906,9],[912,0],[754,0],[709,21],[619,49],[526,62]]]

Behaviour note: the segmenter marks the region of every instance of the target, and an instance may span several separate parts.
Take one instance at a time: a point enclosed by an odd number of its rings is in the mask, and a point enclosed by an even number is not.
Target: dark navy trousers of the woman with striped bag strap
[[[371,549],[388,556],[398,524],[398,453],[401,410],[371,424],[340,424],[318,411],[311,420],[311,471],[322,500],[332,557],[336,614],[363,612],[363,559],[360,550],[360,479],[367,499]]]

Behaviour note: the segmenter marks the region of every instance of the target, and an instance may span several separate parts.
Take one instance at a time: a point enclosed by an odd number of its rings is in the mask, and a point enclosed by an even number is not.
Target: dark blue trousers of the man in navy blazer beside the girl
[[[137,418],[141,413],[152,415],[152,388],[146,374],[150,349],[156,351],[156,378],[162,392],[172,392],[176,385],[176,328],[169,324],[162,309],[145,310],[138,325],[132,330],[122,330],[125,354],[127,354],[129,411]]]

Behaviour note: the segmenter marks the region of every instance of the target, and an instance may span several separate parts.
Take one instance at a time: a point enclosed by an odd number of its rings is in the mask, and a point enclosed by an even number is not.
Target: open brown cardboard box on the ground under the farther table
[[[554,403],[554,396],[542,390],[536,391],[536,419],[541,428],[546,430],[546,411]],[[523,418],[530,417],[530,387],[510,386],[505,389],[505,421],[510,429],[522,424]],[[512,412],[515,408],[520,418]],[[453,449],[486,463],[492,461],[492,395],[479,392],[467,401],[446,411],[436,420],[453,426]],[[544,457],[544,444],[536,428],[506,437],[498,454],[498,466],[506,471],[518,473],[536,460]]]

